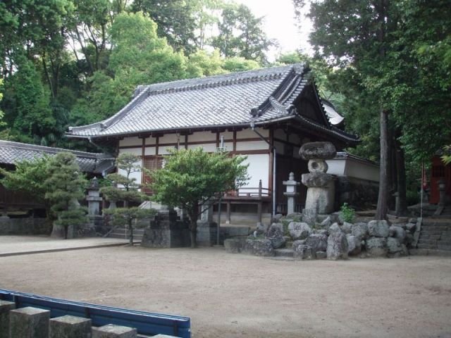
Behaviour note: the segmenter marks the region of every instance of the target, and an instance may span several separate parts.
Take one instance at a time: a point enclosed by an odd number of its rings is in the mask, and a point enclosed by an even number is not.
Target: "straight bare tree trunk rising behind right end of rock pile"
[[[388,208],[388,111],[381,109],[381,173],[376,220],[387,218]]]

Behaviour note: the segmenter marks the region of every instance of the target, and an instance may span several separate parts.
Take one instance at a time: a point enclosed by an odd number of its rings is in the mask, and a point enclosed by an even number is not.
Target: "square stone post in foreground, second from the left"
[[[10,338],[48,338],[50,311],[17,308],[9,312]]]

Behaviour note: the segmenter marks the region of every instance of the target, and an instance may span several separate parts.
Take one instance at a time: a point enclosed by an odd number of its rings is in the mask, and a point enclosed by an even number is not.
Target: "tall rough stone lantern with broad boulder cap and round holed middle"
[[[337,154],[330,142],[309,142],[299,149],[302,159],[309,161],[308,174],[302,174],[302,184],[307,186],[305,208],[314,213],[325,214],[334,211],[335,183],[334,176],[327,174],[326,160]]]

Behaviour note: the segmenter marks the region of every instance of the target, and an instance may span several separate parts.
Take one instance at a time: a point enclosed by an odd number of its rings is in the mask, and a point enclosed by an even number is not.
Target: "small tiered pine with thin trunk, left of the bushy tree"
[[[149,218],[155,215],[154,209],[145,209],[139,207],[130,207],[130,204],[139,204],[147,200],[147,196],[139,192],[140,184],[136,183],[132,173],[140,172],[140,157],[133,154],[121,154],[116,159],[120,173],[113,173],[106,176],[106,180],[111,182],[109,187],[101,188],[101,192],[110,201],[123,201],[123,208],[107,209],[104,212],[113,216],[114,225],[126,225],[130,232],[130,246],[133,245],[133,226],[132,222],[136,219]],[[124,175],[121,175],[121,172]]]

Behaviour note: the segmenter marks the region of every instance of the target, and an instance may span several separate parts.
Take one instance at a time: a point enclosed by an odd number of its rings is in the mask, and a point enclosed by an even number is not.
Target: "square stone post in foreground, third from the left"
[[[90,319],[74,315],[51,318],[49,338],[91,338],[91,323]]]

